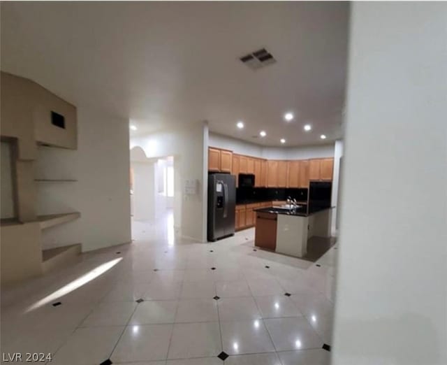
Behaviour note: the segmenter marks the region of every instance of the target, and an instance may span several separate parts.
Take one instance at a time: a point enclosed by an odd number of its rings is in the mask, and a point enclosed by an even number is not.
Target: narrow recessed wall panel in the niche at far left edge
[[[11,170],[11,146],[8,142],[1,142],[1,219],[15,217],[13,174]]]

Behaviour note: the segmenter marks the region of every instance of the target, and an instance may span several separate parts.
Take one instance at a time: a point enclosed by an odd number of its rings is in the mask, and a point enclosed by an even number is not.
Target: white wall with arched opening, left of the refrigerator
[[[185,237],[206,241],[207,221],[207,126],[203,122],[184,129],[160,131],[131,139],[147,157],[174,157],[174,222]],[[206,162],[206,163],[205,163]],[[186,180],[198,181],[196,195],[184,194]]]

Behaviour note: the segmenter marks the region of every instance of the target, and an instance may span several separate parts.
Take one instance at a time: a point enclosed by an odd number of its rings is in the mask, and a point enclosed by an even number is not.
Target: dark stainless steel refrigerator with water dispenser
[[[229,173],[208,175],[208,241],[235,234],[236,179]]]

